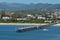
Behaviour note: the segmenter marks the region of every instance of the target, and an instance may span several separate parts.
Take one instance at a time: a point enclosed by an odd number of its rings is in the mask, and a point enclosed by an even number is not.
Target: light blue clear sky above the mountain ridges
[[[8,3],[52,3],[59,4],[60,0],[0,0],[0,2],[8,2]]]

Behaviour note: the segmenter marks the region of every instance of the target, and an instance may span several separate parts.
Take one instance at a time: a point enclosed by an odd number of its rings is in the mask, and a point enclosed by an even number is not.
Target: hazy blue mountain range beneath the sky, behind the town
[[[0,10],[44,10],[44,11],[60,11],[60,4],[48,4],[48,3],[0,3]]]

